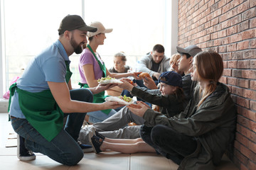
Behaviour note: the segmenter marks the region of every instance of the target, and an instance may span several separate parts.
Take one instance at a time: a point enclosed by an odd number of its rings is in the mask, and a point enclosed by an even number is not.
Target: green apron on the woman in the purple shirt
[[[92,47],[90,47],[90,45],[87,45],[88,49],[90,50],[90,52],[92,52],[92,55],[95,57],[95,60],[97,61],[97,63],[100,65],[100,69],[102,69],[103,75],[102,77],[106,77],[107,75],[107,70],[105,67],[105,64],[101,63],[100,60],[97,59],[95,52],[93,52]],[[80,85],[80,88],[84,87],[84,88],[89,88],[88,84],[82,84],[82,83],[78,83]],[[99,94],[94,94],[93,95],[93,103],[103,103],[105,102],[105,98],[107,96],[105,96],[105,91],[100,92]],[[106,115],[108,115],[110,113],[112,109],[106,109],[106,110],[102,110],[103,113],[105,113]]]

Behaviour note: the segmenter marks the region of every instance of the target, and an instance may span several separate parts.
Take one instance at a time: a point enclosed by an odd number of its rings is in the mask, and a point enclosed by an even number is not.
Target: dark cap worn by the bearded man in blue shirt
[[[97,28],[87,26],[82,17],[77,15],[68,15],[63,18],[60,23],[60,28],[58,28],[59,35],[63,34],[65,30],[83,30],[95,32]]]

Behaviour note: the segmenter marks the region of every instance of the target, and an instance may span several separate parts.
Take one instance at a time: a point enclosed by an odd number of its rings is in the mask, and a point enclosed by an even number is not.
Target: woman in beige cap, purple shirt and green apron
[[[81,88],[95,87],[98,84],[97,79],[107,76],[117,79],[122,77],[134,77],[135,79],[138,79],[138,72],[110,73],[106,69],[105,63],[102,61],[99,53],[96,50],[99,45],[104,45],[104,40],[106,39],[105,33],[111,33],[112,28],[106,29],[102,23],[97,21],[91,23],[90,26],[96,27],[97,31],[95,33],[87,33],[89,44],[84,47],[84,50],[80,56],[79,72]],[[105,91],[93,96],[93,103],[103,102],[105,102]],[[114,113],[116,113],[114,109],[89,112],[85,116],[85,120],[89,123],[97,123],[109,118],[111,115],[114,115]]]

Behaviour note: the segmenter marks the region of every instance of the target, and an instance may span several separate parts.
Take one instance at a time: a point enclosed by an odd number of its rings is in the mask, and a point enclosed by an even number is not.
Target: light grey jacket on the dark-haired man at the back
[[[158,70],[159,73],[169,71],[169,69],[170,69],[169,60],[170,60],[170,58],[167,58],[164,55],[164,58],[163,58],[163,60],[161,60],[161,63],[159,66],[159,70]],[[139,60],[137,72],[147,72],[152,77],[154,74],[154,71],[150,70],[152,67],[152,61],[153,61],[153,58],[150,54],[144,56],[141,60]]]

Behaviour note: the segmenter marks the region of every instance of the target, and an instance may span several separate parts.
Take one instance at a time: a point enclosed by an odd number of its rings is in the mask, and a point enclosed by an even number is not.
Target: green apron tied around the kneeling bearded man
[[[68,84],[72,72],[70,72],[69,64],[65,61],[67,71],[65,80]],[[25,115],[28,123],[35,128],[49,142],[58,135],[63,129],[63,111],[59,108],[50,89],[38,93],[31,93],[18,89],[17,84],[10,86],[9,108],[11,104],[11,96],[14,92],[18,92],[18,103],[23,115]]]

